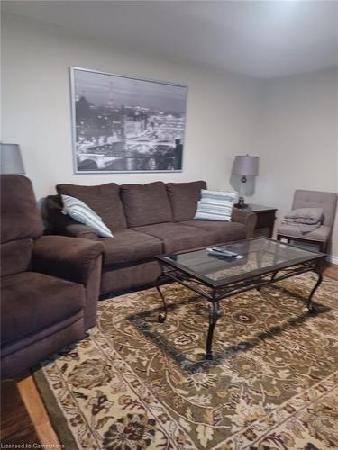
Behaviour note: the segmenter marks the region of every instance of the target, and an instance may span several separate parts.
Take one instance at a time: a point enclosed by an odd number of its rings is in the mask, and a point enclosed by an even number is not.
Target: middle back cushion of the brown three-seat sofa
[[[161,181],[123,184],[121,198],[130,228],[172,221],[166,186]]]

